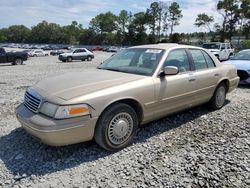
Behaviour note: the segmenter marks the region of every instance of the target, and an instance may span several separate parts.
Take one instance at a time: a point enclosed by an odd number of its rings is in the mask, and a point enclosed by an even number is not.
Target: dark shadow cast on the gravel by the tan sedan
[[[226,101],[229,104],[230,101]],[[134,144],[146,142],[148,138],[181,127],[212,111],[203,106],[162,118],[141,126]],[[0,159],[13,175],[45,175],[70,169],[83,163],[96,161],[113,152],[99,147],[94,141],[63,147],[50,147],[17,128],[0,138]]]

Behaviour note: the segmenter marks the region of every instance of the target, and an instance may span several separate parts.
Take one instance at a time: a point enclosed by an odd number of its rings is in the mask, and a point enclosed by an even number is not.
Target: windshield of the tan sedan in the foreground
[[[98,68],[151,76],[158,66],[163,53],[163,49],[125,49],[104,61]]]

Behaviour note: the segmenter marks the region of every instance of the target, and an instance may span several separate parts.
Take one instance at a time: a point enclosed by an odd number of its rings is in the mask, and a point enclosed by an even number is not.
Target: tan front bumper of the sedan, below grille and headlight
[[[97,118],[90,116],[55,120],[35,114],[23,104],[16,108],[16,116],[29,134],[51,146],[64,146],[93,139],[97,121]]]

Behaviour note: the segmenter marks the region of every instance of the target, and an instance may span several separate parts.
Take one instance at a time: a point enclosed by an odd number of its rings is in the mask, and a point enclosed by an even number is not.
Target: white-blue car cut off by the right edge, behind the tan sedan
[[[225,63],[236,66],[240,84],[250,84],[250,49],[238,52]]]

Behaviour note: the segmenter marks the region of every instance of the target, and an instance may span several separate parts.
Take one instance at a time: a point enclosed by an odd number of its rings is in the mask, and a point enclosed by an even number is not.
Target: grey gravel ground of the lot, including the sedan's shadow
[[[204,106],[152,122],[117,153],[94,141],[49,147],[29,136],[14,109],[25,89],[53,74],[95,68],[92,62],[30,58],[0,65],[0,187],[250,187],[250,88],[230,93],[218,111]]]

